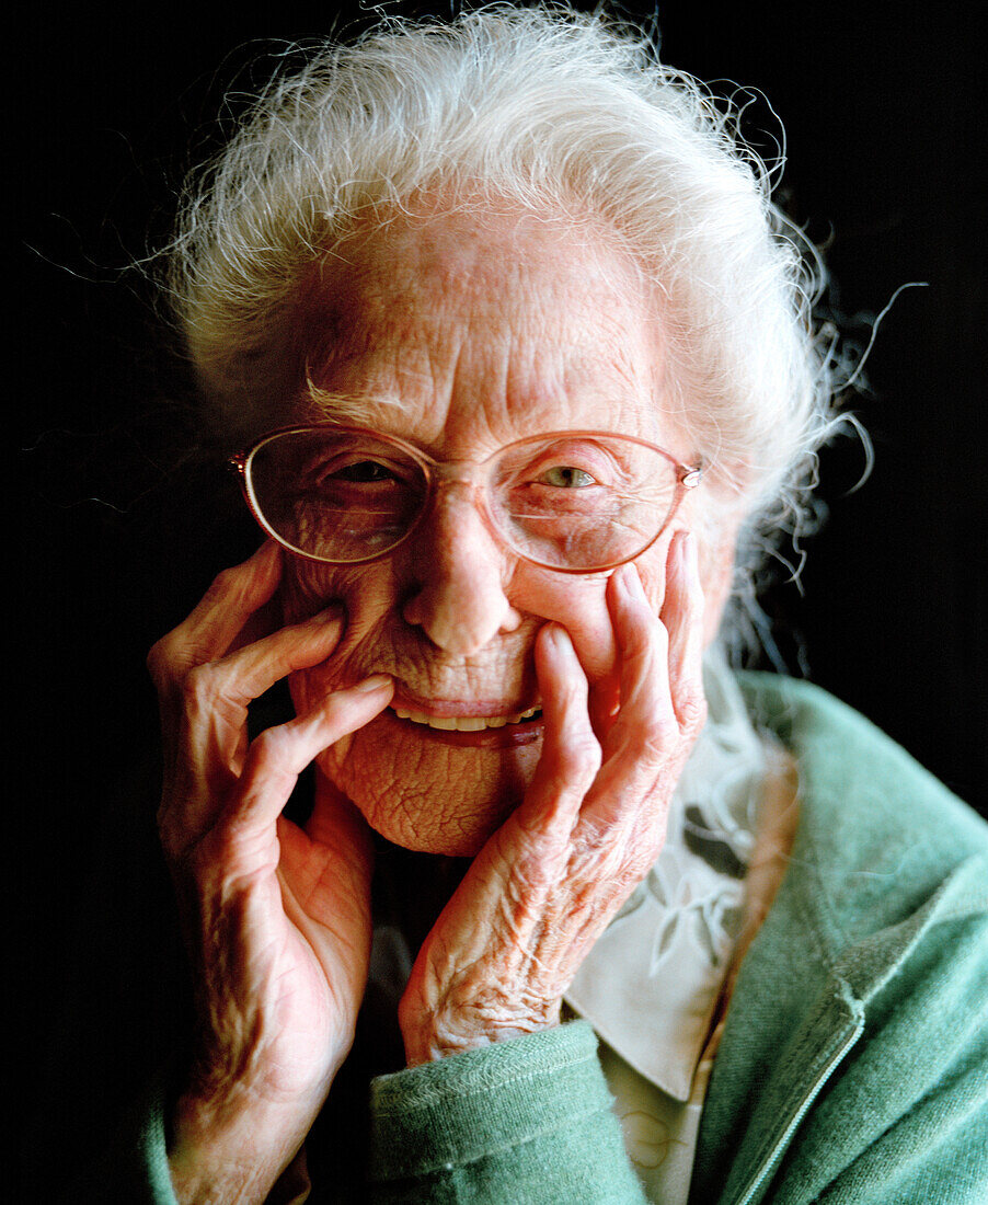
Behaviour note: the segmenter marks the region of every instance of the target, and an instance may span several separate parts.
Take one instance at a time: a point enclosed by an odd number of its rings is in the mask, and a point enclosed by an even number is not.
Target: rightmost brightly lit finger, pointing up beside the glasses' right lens
[[[696,537],[677,534],[669,552],[661,621],[669,631],[669,686],[680,727],[699,731],[706,718],[704,698],[704,590]]]

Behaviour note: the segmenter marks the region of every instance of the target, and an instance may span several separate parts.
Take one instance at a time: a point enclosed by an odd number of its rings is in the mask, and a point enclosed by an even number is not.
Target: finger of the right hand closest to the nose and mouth
[[[535,641],[542,695],[542,753],[518,822],[533,831],[559,827],[569,836],[583,798],[600,769],[600,743],[588,711],[587,675],[565,628],[546,624]]]

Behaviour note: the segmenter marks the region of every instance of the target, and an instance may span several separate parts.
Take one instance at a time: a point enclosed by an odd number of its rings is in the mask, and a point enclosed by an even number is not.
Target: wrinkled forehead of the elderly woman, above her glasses
[[[648,290],[623,249],[565,234],[533,242],[514,229],[492,251],[427,223],[365,240],[320,281],[310,375],[323,389],[310,410],[422,442],[496,446],[566,427],[652,435],[661,364]],[[588,405],[599,417],[587,421]]]

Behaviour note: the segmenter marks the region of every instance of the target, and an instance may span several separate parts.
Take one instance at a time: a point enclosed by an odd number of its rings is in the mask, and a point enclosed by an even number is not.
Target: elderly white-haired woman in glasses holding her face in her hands
[[[151,654],[198,1023],[102,1199],[984,1199],[986,830],[723,653],[834,423],[784,230],[599,20],[246,120],[172,287],[267,539]]]

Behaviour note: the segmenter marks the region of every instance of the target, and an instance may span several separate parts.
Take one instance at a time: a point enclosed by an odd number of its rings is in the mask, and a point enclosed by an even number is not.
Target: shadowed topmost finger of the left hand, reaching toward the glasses
[[[271,600],[281,570],[281,549],[267,540],[248,560],[218,574],[188,618],[152,648],[148,669],[159,690],[194,665],[223,657],[251,616]]]

